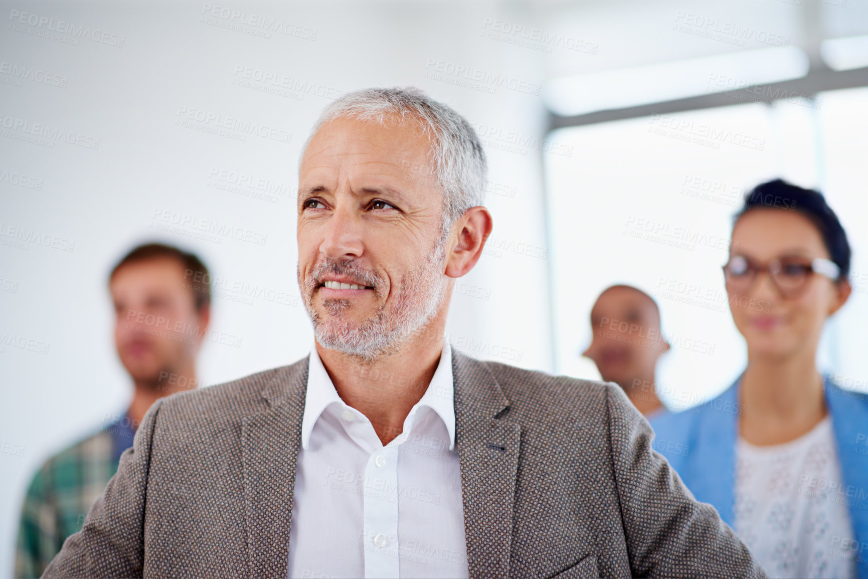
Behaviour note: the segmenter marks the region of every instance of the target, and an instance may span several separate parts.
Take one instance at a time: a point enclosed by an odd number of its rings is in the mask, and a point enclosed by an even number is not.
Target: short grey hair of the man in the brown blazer
[[[476,131],[455,110],[415,88],[357,90],[332,102],[319,115],[301,148],[299,168],[307,145],[325,122],[351,118],[385,124],[395,116],[401,123],[411,117],[424,134],[433,137],[431,161],[437,185],[444,193],[444,227],[450,227],[470,207],[482,205],[488,166]]]

